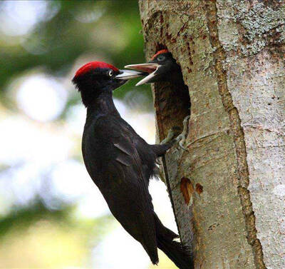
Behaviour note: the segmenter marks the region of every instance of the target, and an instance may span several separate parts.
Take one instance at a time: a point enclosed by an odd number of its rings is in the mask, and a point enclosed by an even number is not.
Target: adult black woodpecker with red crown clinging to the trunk
[[[158,263],[158,247],[178,268],[192,268],[192,260],[174,240],[178,235],[162,225],[155,214],[148,191],[156,159],[165,154],[175,140],[160,145],[146,143],[120,117],[113,103],[115,88],[143,74],[119,70],[98,61],[78,69],[72,81],[87,107],[83,160],[111,213],[142,244],[153,264]]]

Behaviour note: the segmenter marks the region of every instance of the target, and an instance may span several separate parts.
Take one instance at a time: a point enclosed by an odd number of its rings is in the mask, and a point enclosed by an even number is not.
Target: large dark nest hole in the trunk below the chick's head
[[[159,51],[167,48],[164,45],[157,44],[156,49]],[[155,113],[160,141],[167,136],[167,131],[172,126],[182,128],[184,118],[190,115],[189,89],[183,81],[180,65],[177,64],[179,66],[178,71],[171,74],[169,81],[154,84]]]

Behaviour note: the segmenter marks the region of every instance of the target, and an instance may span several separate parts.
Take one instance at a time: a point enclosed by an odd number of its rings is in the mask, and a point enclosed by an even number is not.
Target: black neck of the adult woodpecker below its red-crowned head
[[[103,91],[87,106],[87,118],[107,114],[120,116],[117,108],[115,108],[112,91]]]

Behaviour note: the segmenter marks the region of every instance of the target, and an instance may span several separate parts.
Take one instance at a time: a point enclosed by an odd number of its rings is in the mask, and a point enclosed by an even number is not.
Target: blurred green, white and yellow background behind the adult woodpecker
[[[71,84],[88,61],[144,62],[138,3],[0,2],[0,268],[152,266],[90,180],[81,156],[86,109]],[[121,116],[155,142],[150,86],[115,91]],[[165,185],[157,214],[176,231]]]

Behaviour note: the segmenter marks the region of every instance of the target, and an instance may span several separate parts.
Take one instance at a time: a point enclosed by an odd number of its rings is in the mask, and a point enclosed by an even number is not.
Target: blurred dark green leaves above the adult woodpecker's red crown
[[[4,5],[1,1],[0,12]],[[11,101],[6,98],[7,84],[33,68],[71,80],[71,68],[79,57],[108,61],[118,68],[144,61],[137,1],[47,1],[42,17],[23,36],[1,34],[0,97],[6,105]],[[123,97],[133,85],[128,83],[115,96]],[[144,92],[151,98],[150,91]],[[74,103],[70,97],[68,104]]]

